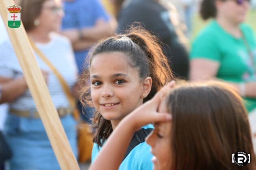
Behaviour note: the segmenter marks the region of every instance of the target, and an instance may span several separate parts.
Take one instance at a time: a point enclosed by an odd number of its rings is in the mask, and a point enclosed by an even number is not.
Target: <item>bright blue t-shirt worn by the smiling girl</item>
[[[152,124],[149,124],[143,126],[143,128],[154,128],[154,126]],[[138,144],[126,156],[124,161],[119,166],[119,170],[152,170],[153,163],[151,159],[153,155],[150,153],[150,149],[150,145],[147,144],[146,142],[141,142],[140,144]],[[95,160],[100,150],[101,147],[98,150],[98,144],[94,143],[91,154],[91,162]]]

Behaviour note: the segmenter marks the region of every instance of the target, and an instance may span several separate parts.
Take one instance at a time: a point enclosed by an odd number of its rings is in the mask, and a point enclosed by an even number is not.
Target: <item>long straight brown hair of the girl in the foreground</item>
[[[251,154],[243,169],[255,169],[247,111],[230,85],[178,85],[166,101],[172,114],[171,170],[240,170],[232,163],[238,151]]]

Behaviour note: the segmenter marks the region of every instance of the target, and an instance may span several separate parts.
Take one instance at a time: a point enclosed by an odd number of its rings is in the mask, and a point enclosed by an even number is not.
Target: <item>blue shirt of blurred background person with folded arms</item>
[[[99,0],[74,0],[64,2],[65,16],[62,21],[62,30],[82,29],[92,27],[99,18],[109,21],[109,16]],[[81,74],[88,50],[75,51],[76,64]]]

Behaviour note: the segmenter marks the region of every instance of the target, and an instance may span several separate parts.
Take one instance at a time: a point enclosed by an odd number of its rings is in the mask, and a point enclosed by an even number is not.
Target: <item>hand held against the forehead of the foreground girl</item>
[[[125,117],[124,121],[128,121],[126,125],[130,124],[132,128],[139,130],[144,125],[154,122],[164,122],[171,120],[170,113],[158,113],[158,107],[161,101],[165,98],[167,92],[174,87],[175,81],[171,81],[165,85],[156,95],[145,102],[143,105],[135,109],[132,113]]]

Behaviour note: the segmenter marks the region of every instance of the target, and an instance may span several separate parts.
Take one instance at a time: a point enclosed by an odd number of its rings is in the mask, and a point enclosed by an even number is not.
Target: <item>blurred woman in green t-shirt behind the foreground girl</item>
[[[190,79],[219,78],[244,97],[256,112],[256,39],[245,23],[249,0],[203,0],[203,19],[213,18],[195,38],[191,49]]]

